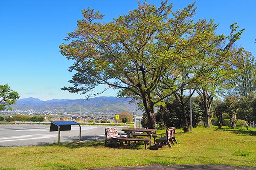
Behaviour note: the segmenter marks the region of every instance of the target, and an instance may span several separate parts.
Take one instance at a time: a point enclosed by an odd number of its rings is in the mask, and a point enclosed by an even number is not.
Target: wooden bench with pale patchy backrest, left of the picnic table
[[[105,142],[104,145],[114,145],[114,147],[117,147],[117,142],[119,139],[127,137],[126,134],[120,135],[118,134],[117,128],[116,127],[105,127]]]

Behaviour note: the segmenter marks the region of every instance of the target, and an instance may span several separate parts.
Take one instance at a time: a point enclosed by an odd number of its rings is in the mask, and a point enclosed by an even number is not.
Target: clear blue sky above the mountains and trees
[[[148,0],[157,6],[160,0]],[[173,9],[183,8],[194,0],[169,0]],[[236,45],[256,55],[256,0],[197,0],[195,20],[214,19],[217,34],[230,33],[237,22],[245,28]],[[0,84],[6,83],[20,99],[80,99],[83,95],[62,91],[70,86],[72,62],[59,52],[68,32],[82,19],[81,9],[94,8],[105,14],[104,22],[137,8],[137,0],[3,0],[0,3]],[[100,91],[99,87],[95,91]],[[115,96],[109,90],[101,96]]]

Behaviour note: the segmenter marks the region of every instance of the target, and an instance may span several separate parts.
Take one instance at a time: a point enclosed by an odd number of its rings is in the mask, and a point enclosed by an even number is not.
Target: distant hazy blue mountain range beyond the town
[[[84,101],[83,101],[84,100]],[[134,104],[129,104],[131,98],[116,97],[95,97],[91,99],[52,99],[41,101],[32,97],[26,99],[18,99],[16,105],[12,105],[13,110],[33,110],[33,111],[52,111],[63,113],[79,113],[80,107],[82,112],[113,112],[122,111],[133,112]],[[81,106],[80,106],[81,105]]]

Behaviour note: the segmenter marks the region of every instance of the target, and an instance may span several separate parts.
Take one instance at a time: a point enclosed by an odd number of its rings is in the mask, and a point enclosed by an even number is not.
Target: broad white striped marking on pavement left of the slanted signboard
[[[0,138],[0,142],[30,140],[30,139],[44,139],[44,138],[53,138],[56,136],[58,136],[58,135],[56,135],[56,134],[35,134],[35,135],[22,135],[22,136],[8,136],[8,137]]]

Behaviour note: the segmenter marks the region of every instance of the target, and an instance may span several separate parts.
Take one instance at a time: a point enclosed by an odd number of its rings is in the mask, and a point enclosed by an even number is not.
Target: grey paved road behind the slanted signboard
[[[81,141],[104,140],[106,126],[81,126]],[[58,131],[49,132],[50,125],[1,125],[0,147],[35,146],[58,142]],[[118,131],[124,127],[118,127]],[[79,126],[70,131],[61,131],[60,142],[79,141]]]

